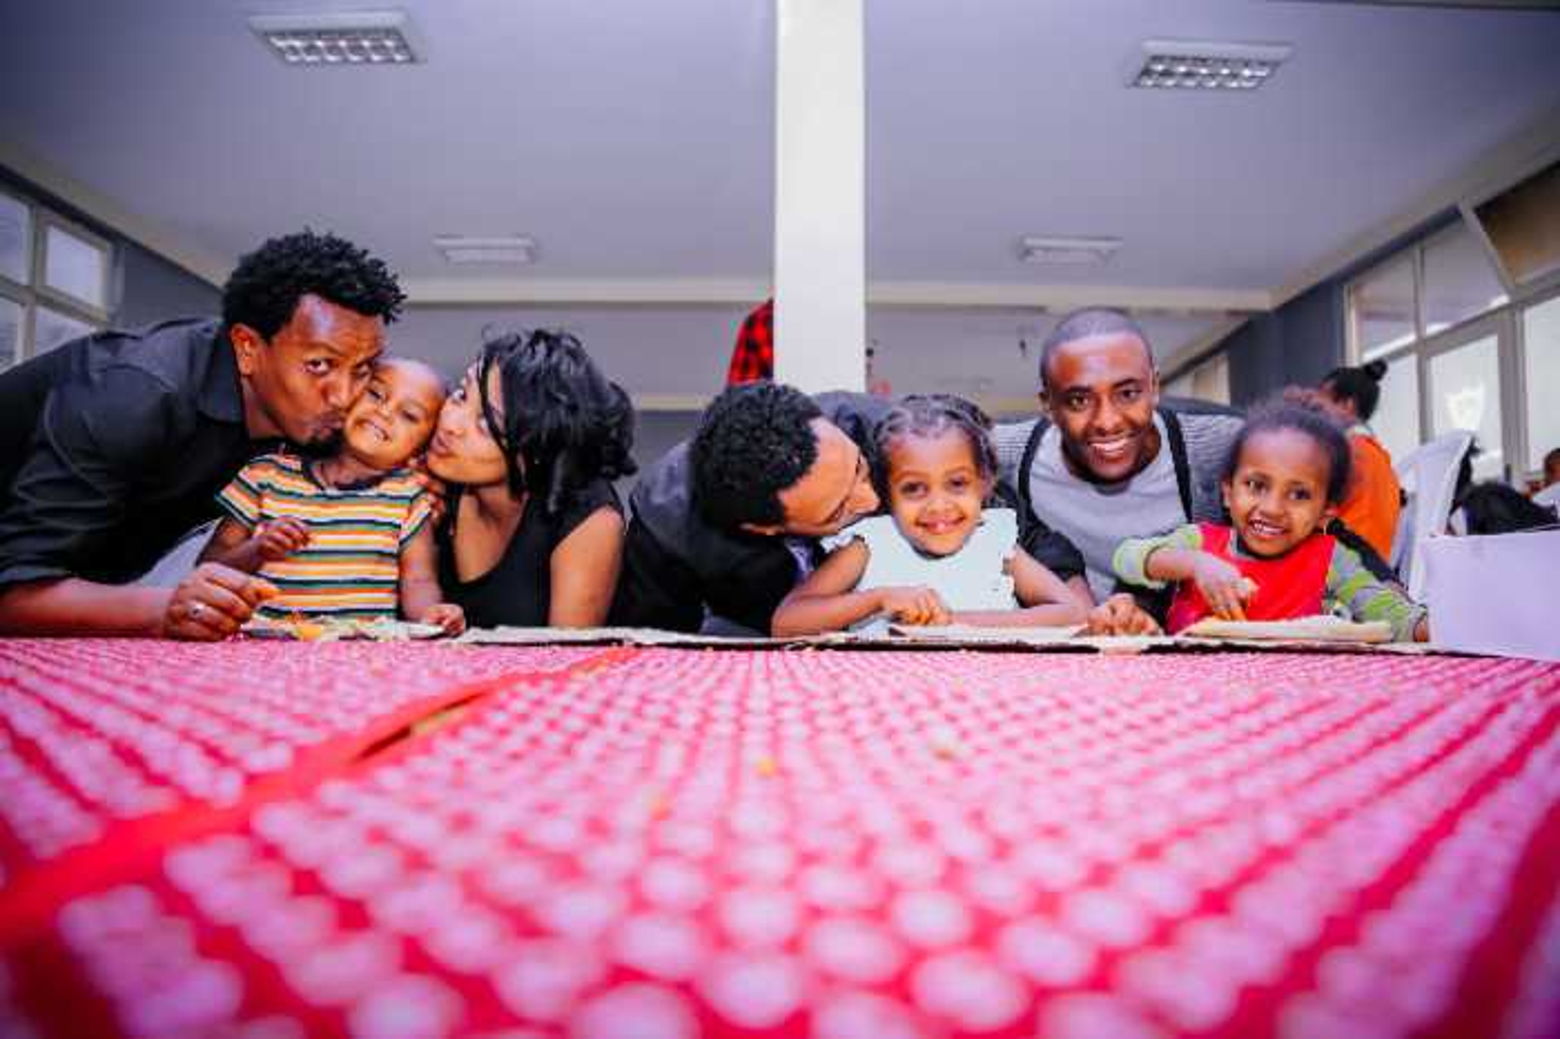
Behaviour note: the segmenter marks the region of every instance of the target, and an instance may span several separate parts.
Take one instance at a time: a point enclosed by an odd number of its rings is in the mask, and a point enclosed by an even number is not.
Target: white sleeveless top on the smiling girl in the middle
[[[1014,610],[1019,599],[1006,563],[1019,544],[1019,518],[1011,509],[986,509],[975,534],[953,555],[922,555],[892,516],[867,516],[824,538],[825,549],[860,540],[870,559],[856,590],[927,585],[950,610]]]

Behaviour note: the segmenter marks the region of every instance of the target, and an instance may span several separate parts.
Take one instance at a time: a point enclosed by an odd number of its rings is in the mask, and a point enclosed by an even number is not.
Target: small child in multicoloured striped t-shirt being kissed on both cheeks
[[[443,602],[432,496],[407,463],[434,435],[445,381],[418,360],[384,359],[324,459],[265,454],[217,496],[228,516],[201,554],[257,573],[278,594],[262,618],[393,619],[465,627]]]

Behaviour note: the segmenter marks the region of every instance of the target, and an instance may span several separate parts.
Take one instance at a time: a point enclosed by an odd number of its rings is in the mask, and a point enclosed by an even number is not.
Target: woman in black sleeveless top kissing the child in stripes
[[[474,627],[601,624],[622,560],[633,409],[579,340],[488,340],[440,412],[427,471],[448,482],[440,583]]]

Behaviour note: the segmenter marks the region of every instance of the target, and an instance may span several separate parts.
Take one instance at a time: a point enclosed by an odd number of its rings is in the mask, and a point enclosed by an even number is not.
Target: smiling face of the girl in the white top
[[[952,555],[980,524],[991,490],[969,437],[958,429],[906,434],[888,446],[888,499],[894,526],[927,555]]]

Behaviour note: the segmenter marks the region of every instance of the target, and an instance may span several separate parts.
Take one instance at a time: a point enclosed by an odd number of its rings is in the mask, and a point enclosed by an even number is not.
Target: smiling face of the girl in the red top
[[[1320,530],[1335,509],[1328,502],[1332,462],[1298,429],[1253,432],[1236,473],[1225,480],[1225,507],[1253,555],[1276,557]]]

